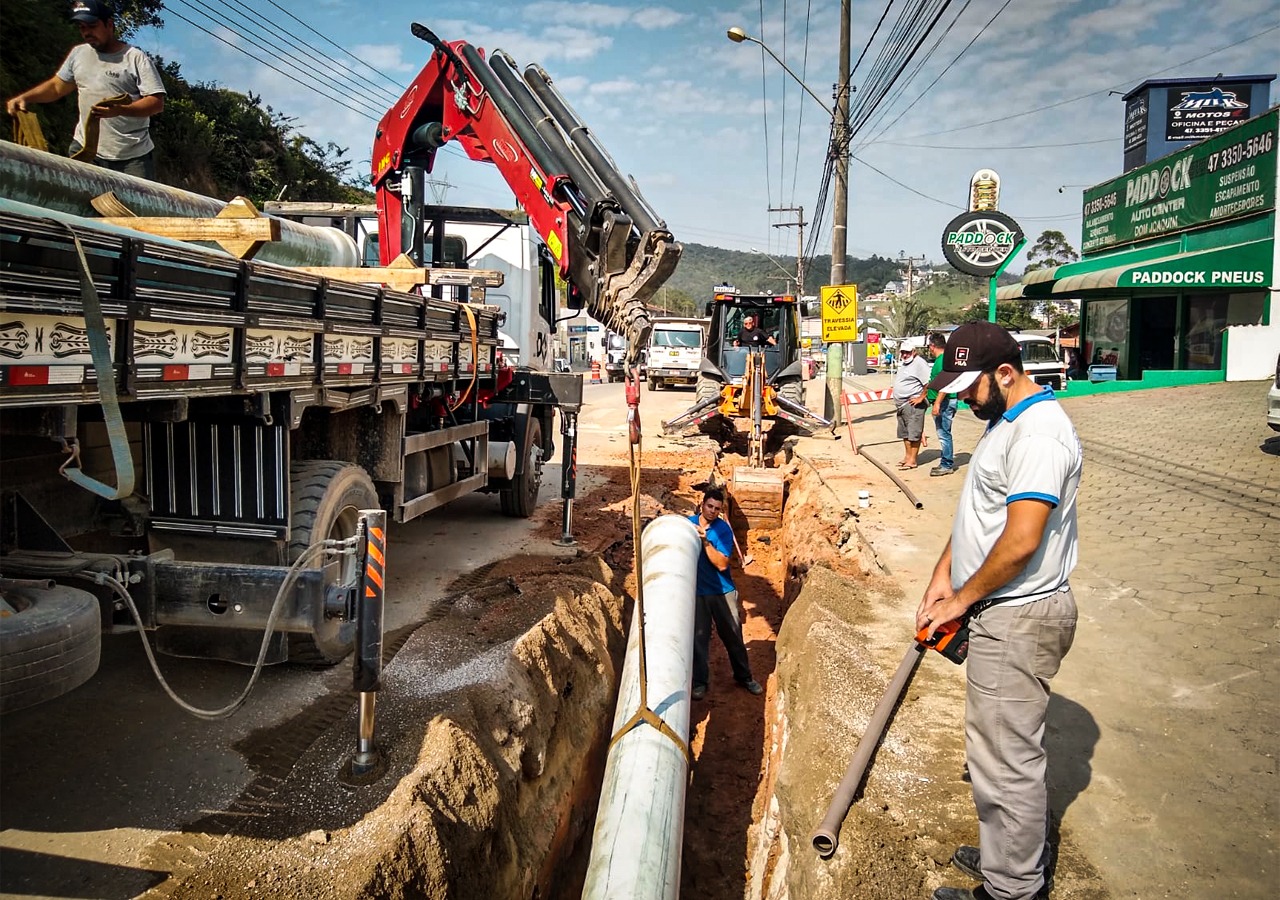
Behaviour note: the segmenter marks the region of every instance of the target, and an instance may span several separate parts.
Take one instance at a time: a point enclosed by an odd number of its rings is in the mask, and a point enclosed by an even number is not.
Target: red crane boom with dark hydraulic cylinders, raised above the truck
[[[383,265],[402,252],[420,265],[422,182],[435,152],[457,141],[493,163],[570,285],[570,305],[627,337],[630,362],[648,346],[645,301],[667,280],[681,247],[639,189],[617,170],[538,65],[502,50],[485,59],[466,41],[442,41],[378,124],[372,183]]]

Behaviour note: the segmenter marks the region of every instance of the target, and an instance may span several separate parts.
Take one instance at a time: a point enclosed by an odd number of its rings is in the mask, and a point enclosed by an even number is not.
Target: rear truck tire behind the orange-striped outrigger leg
[[[311,544],[329,538],[346,539],[356,534],[361,510],[376,510],[378,490],[360,466],[333,460],[306,460],[289,469],[289,562],[296,562]],[[355,576],[358,562],[351,557],[328,559],[325,584],[338,584]],[[289,635],[289,662],[333,666],[351,653],[356,623],[325,618],[315,611],[310,634]]]

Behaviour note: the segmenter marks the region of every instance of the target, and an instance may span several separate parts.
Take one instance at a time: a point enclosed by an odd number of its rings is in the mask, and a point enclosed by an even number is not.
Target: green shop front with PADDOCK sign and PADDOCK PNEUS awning
[[[1280,352],[1270,109],[1084,192],[1078,262],[997,300],[1080,300],[1080,369],[1153,384],[1262,379]]]

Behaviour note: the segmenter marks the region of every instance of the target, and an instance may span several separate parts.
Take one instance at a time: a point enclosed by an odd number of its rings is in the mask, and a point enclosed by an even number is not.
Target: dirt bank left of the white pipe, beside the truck
[[[472,576],[387,668],[378,783],[335,780],[355,725],[330,730],[257,816],[151,896],[548,896],[594,816],[623,647],[612,581],[599,558]]]

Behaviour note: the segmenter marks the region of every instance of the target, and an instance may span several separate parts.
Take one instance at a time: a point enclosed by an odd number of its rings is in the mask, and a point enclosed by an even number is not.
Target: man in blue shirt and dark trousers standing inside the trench
[[[728,650],[728,662],[733,668],[733,680],[753,694],[763,694],[764,687],[751,677],[751,664],[746,658],[746,644],[742,643],[742,623],[737,612],[737,588],[728,574],[730,557],[737,544],[732,526],[721,518],[724,508],[724,492],[708,488],[703,492],[703,503],[698,515],[689,521],[698,529],[703,539],[703,552],[698,557],[698,585],[694,589],[694,690],[692,698],[707,696],[710,681],[712,623],[716,634]],[[741,556],[741,550],[739,550]],[[744,562],[744,565],[746,565]]]

